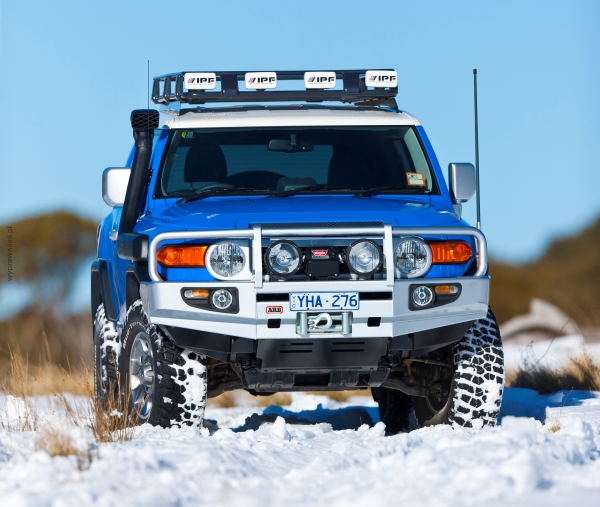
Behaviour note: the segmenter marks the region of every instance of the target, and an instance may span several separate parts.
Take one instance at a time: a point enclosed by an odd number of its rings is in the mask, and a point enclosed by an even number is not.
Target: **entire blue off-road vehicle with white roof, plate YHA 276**
[[[182,72],[131,114],[92,266],[96,391],[201,425],[244,389],[371,389],[389,432],[494,425],[486,240],[392,70]],[[221,107],[207,107],[206,104]],[[257,103],[262,103],[258,105]]]

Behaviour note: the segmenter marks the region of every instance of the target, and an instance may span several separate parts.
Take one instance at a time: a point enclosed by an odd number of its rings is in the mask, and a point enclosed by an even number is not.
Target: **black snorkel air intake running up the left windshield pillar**
[[[148,236],[133,232],[133,227],[140,217],[142,198],[148,180],[152,139],[154,129],[158,128],[158,111],[154,109],[132,111],[131,128],[135,140],[135,154],[119,223],[117,252],[122,259],[145,261],[148,257]]]

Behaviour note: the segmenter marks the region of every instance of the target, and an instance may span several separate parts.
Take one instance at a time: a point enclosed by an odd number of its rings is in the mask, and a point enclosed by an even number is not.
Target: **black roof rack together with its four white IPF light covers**
[[[366,84],[367,73],[369,81],[375,84],[375,87]],[[316,79],[328,81],[315,84],[312,82],[315,80],[315,76]],[[193,84],[192,80],[195,80],[196,84]],[[200,80],[204,81],[204,84],[198,84]],[[342,81],[341,89],[327,89],[335,87],[338,80]],[[382,82],[382,80],[384,81]],[[241,81],[244,82],[246,90],[240,90]],[[278,81],[304,81],[305,89],[276,90]],[[263,82],[264,85],[257,84]],[[217,87],[219,83],[220,90]],[[356,106],[384,106],[398,111],[395,100],[397,95],[396,72],[392,69],[336,70],[329,72],[190,71],[155,77],[152,87],[152,101],[155,104],[170,104],[171,102],[206,104],[213,102],[334,101],[352,103]]]

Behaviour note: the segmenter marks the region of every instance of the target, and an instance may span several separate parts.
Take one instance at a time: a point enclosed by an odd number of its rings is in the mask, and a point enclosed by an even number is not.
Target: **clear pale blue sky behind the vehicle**
[[[483,230],[528,260],[600,214],[599,57],[593,0],[3,0],[0,222],[109,211],[102,170],[125,162],[148,59],[151,75],[396,68],[443,167],[474,161],[476,67]]]

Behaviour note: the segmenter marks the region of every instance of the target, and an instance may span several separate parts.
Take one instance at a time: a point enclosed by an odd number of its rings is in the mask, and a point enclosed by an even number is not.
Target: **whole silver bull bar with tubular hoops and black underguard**
[[[398,237],[418,235],[474,237],[477,241],[475,275],[396,279],[394,242]],[[384,278],[369,281],[267,281],[262,272],[264,241],[293,237],[379,239],[383,244]],[[161,242],[223,238],[245,238],[250,241],[251,280],[207,283],[167,282],[161,279],[156,262],[156,252]],[[324,375],[323,371],[331,373],[330,382],[327,383],[330,388],[358,387],[363,385],[364,375],[370,379],[368,385],[379,385],[389,372],[388,367],[382,366],[385,363],[383,356],[392,351],[403,355],[411,351],[411,357],[416,357],[455,342],[463,336],[472,321],[484,318],[488,310],[486,241],[478,229],[471,227],[392,227],[384,224],[381,227],[261,228],[260,225],[254,225],[246,230],[162,233],[150,244],[148,268],[152,281],[142,283],[140,294],[150,321],[161,326],[182,347],[195,349],[224,362],[243,365],[245,384],[251,389],[263,386],[277,390],[281,382],[282,386],[289,388],[292,381],[293,386],[298,387],[300,384],[295,376],[310,376],[315,368],[319,374]],[[409,304],[410,287],[415,284],[460,284],[461,291],[452,302],[415,311]],[[237,289],[237,313],[218,313],[192,307],[182,297],[182,289],[222,287]],[[299,323],[302,318],[290,310],[291,292],[359,292],[360,308],[353,310],[351,316],[336,316],[342,319],[343,329],[339,333],[314,332],[314,329],[306,333],[306,326]],[[267,314],[268,306],[279,306],[281,311],[276,315]],[[350,328],[344,327],[348,319],[351,320]],[[294,347],[301,347],[302,350],[291,353]],[[287,372],[285,379],[279,378],[282,372]],[[306,387],[318,385],[313,382],[310,386],[306,384]]]

